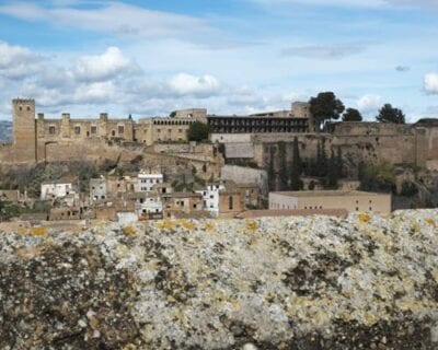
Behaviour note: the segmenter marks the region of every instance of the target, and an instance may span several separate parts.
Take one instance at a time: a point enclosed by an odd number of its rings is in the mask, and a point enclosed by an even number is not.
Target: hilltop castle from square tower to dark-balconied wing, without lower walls
[[[66,149],[66,159],[72,150],[90,145],[94,149],[114,140],[151,145],[158,142],[187,141],[187,130],[198,120],[208,122],[212,132],[309,132],[312,118],[307,103],[293,103],[291,110],[263,113],[247,117],[208,116],[204,108],[175,110],[169,117],[108,118],[101,113],[99,118],[71,118],[65,113],[61,118],[48,119],[38,113],[35,118],[35,101],[12,101],[13,144],[0,152],[4,163],[42,162],[47,160],[48,150]],[[53,152],[51,152],[53,153]],[[87,153],[85,153],[87,154]]]

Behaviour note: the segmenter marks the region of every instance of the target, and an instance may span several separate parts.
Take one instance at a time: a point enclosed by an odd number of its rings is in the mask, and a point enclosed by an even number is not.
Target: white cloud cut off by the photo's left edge
[[[0,42],[0,77],[21,79],[41,69],[42,57],[21,46]]]

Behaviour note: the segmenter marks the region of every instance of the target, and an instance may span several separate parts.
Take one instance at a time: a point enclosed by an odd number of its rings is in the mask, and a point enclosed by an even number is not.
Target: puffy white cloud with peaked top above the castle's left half
[[[102,55],[83,56],[73,69],[77,79],[82,81],[102,81],[139,71],[140,68],[117,47],[108,47]]]

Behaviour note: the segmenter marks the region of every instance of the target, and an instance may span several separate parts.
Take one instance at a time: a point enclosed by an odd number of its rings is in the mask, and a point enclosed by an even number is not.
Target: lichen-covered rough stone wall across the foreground
[[[438,211],[0,233],[0,349],[437,349]]]

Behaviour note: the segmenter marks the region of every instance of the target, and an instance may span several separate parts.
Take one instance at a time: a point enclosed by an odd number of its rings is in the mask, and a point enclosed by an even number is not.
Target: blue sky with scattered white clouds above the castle
[[[333,91],[438,117],[438,0],[0,0],[0,119],[244,115]]]

